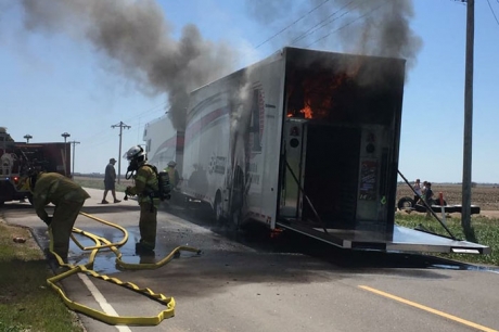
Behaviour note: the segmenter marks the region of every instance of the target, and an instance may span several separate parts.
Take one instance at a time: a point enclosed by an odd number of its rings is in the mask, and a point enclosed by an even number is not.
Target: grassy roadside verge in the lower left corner
[[[16,243],[14,238],[26,240]],[[84,331],[78,317],[47,285],[52,270],[28,229],[0,218],[0,331]]]

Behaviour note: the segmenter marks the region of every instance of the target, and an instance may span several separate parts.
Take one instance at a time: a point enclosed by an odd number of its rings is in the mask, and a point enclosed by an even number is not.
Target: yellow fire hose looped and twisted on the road
[[[116,266],[119,267],[119,268],[135,269],[135,270],[139,270],[139,269],[157,269],[157,268],[166,265],[167,263],[169,263],[175,257],[175,254],[180,253],[181,251],[193,252],[193,253],[196,253],[196,254],[201,254],[201,251],[195,248],[195,247],[191,247],[191,246],[178,246],[168,256],[166,256],[165,258],[163,258],[162,260],[159,260],[157,263],[149,263],[149,264],[125,263],[125,261],[121,260],[123,255],[119,252],[118,247],[123,246],[128,241],[128,232],[127,232],[127,230],[125,228],[116,225],[116,224],[103,220],[101,218],[94,217],[92,215],[89,215],[89,214],[86,214],[86,213],[82,213],[82,212],[80,212],[80,215],[82,215],[85,217],[88,217],[90,219],[93,219],[95,221],[99,221],[101,224],[107,225],[110,227],[114,227],[116,229],[119,229],[123,232],[124,237],[119,242],[112,243],[111,241],[108,241],[105,238],[102,238],[102,237],[99,237],[99,235],[95,235],[95,234],[92,234],[92,233],[89,233],[89,232],[85,232],[85,231],[82,231],[82,230],[80,230],[78,228],[73,228],[74,233],[78,233],[78,234],[81,234],[84,237],[87,237],[87,238],[91,239],[95,243],[95,245],[93,245],[93,246],[85,247],[85,246],[81,245],[81,243],[73,234],[71,235],[73,241],[76,243],[76,245],[80,250],[90,251],[90,256],[89,256],[88,263],[85,264],[85,265],[76,265],[75,266],[75,265],[72,265],[72,264],[64,263],[63,259],[53,251],[52,228],[49,227],[49,235],[50,235],[50,247],[49,247],[49,250],[50,250],[50,253],[52,255],[54,255],[54,257],[57,259],[57,263],[59,263],[60,266],[66,267],[66,268],[68,268],[68,270],[65,271],[65,272],[62,272],[60,274],[56,274],[56,276],[54,276],[52,278],[47,279],[47,283],[55,292],[59,293],[59,295],[61,296],[61,298],[63,299],[65,305],[72,310],[79,311],[79,312],[85,314],[85,315],[87,315],[89,317],[92,317],[94,319],[98,319],[100,321],[103,321],[105,323],[113,324],[113,325],[117,325],[117,324],[157,325],[164,319],[174,317],[175,316],[175,299],[174,299],[174,297],[167,297],[167,296],[165,296],[165,295],[163,295],[161,293],[154,293],[150,289],[141,289],[138,285],[136,285],[136,284],[133,284],[131,282],[123,282],[117,278],[111,278],[111,277],[104,276],[104,274],[101,276],[101,274],[97,273],[95,271],[93,271],[91,269],[91,268],[93,268],[94,258],[95,258],[99,250],[101,250],[101,248],[110,248],[116,255]],[[151,299],[156,301],[156,302],[165,305],[166,308],[164,310],[162,310],[157,316],[152,316],[152,317],[129,317],[129,316],[128,317],[123,317],[123,316],[107,315],[107,314],[105,314],[103,311],[99,311],[99,310],[92,309],[90,307],[87,307],[87,306],[85,306],[85,305],[82,305],[80,303],[74,302],[74,301],[69,299],[66,296],[64,291],[56,283],[59,281],[65,279],[65,278],[68,278],[71,276],[73,276],[73,274],[80,273],[80,272],[86,273],[87,276],[92,276],[94,278],[102,279],[104,281],[113,282],[113,283],[115,283],[117,285],[124,286],[124,288],[129,289],[129,290],[131,290],[133,292],[137,292],[139,294],[148,296]]]

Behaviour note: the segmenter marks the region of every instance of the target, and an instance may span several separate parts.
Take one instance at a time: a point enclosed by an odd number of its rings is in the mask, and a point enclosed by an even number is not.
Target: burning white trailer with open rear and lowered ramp
[[[344,248],[488,253],[395,225],[404,81],[400,59],[284,48],[201,87],[176,146],[180,191],[218,221]],[[162,122],[144,132],[153,163],[179,136]]]

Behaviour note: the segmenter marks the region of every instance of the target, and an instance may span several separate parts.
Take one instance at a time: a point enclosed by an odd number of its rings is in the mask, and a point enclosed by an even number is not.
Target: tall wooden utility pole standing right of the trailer
[[[473,44],[475,35],[475,0],[462,0],[466,7],[466,65],[464,77],[464,144],[462,167],[461,226],[471,229],[471,168],[473,136]]]

